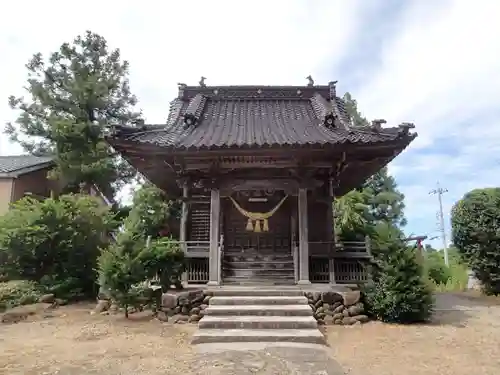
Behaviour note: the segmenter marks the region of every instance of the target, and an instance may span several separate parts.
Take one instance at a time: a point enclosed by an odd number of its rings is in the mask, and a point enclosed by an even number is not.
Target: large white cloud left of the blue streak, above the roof
[[[325,61],[335,62],[365,11],[359,1],[86,1],[34,0],[0,5],[0,121],[15,118],[8,95],[22,94],[24,64],[90,29],[119,47],[131,64],[132,90],[148,122],[162,123],[177,82],[302,84],[317,82]],[[22,19],[22,22],[20,20]],[[316,73],[316,75],[315,75]],[[5,139],[0,154],[18,152]]]

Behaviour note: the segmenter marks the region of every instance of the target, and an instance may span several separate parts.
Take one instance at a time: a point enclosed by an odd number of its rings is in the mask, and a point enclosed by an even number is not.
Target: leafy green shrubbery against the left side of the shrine
[[[151,301],[155,297],[148,293],[150,290],[138,287],[147,280],[158,277],[163,291],[172,284],[181,287],[184,252],[172,238],[160,238],[161,230],[176,213],[176,205],[163,191],[145,184],[134,194],[116,243],[103,250],[99,258],[99,285],[103,293],[125,307],[126,314],[128,306],[158,303]]]

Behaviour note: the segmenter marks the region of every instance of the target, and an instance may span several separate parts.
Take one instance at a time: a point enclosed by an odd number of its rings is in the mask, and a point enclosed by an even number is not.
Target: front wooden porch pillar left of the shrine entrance
[[[210,251],[208,266],[208,284],[219,285],[219,228],[220,228],[220,191],[212,188],[210,192]]]

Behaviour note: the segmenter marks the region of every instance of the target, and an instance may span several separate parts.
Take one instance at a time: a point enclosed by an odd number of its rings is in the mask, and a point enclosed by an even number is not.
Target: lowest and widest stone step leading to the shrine
[[[201,322],[201,321],[200,321]],[[325,344],[317,329],[200,329],[193,335],[193,344],[224,342],[300,342]]]

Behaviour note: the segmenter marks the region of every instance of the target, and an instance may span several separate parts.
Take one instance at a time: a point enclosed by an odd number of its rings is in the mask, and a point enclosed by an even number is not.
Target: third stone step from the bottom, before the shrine
[[[215,298],[215,297],[213,297]],[[209,305],[205,316],[312,316],[309,305]]]

